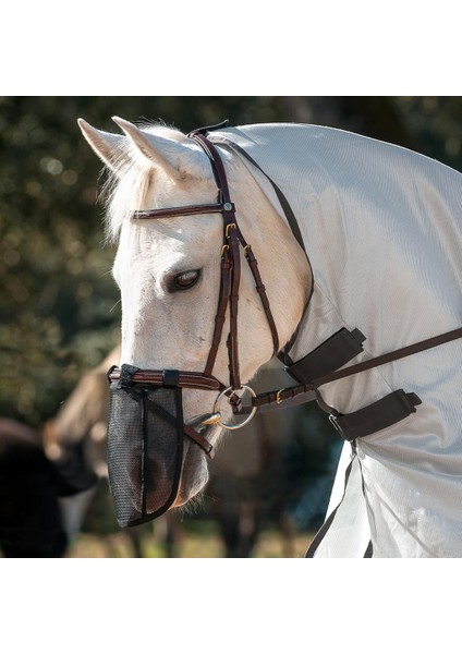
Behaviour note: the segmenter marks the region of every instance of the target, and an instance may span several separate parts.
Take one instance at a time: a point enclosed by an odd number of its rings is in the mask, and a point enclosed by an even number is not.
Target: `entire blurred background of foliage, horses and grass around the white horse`
[[[226,118],[232,125],[330,125],[462,171],[462,98],[0,97],[1,552],[303,556],[323,522],[342,445],[311,405],[263,416],[227,437],[193,512],[117,528],[106,481],[105,371],[118,344],[120,305],[98,202],[101,167],[76,124],[82,117],[117,132],[114,114],[184,132]],[[268,379],[281,374],[267,371]],[[63,524],[66,499],[57,496],[96,480],[82,496],[83,523],[75,517]]]

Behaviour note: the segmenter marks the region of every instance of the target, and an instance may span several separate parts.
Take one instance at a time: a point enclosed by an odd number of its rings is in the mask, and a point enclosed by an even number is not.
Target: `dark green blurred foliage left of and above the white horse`
[[[100,164],[78,117],[181,130],[312,121],[461,168],[460,98],[0,97],[0,415],[39,426],[119,337],[119,294],[98,204]]]

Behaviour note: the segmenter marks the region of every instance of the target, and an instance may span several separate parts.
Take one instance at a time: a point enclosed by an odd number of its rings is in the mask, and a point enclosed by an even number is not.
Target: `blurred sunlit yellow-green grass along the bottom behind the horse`
[[[166,557],[162,529],[146,526],[139,535],[144,557]],[[267,529],[258,537],[252,553],[257,558],[302,558],[313,538],[313,533],[294,533],[283,537],[277,529]],[[81,534],[68,552],[70,558],[126,558],[135,556],[133,542],[127,533],[99,536]],[[194,521],[177,529],[173,556],[175,558],[221,558],[224,556],[222,540],[212,521]]]

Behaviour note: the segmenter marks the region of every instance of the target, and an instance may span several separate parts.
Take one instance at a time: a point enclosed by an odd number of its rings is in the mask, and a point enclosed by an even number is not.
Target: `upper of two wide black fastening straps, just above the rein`
[[[308,384],[316,377],[337,371],[345,363],[361,354],[366,337],[358,330],[349,331],[344,327],[333,334],[313,352],[309,352],[285,370],[297,382]]]

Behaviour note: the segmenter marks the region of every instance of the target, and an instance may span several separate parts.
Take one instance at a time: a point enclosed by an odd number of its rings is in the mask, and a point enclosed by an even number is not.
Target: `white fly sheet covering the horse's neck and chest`
[[[242,158],[284,218],[258,166],[296,218],[314,289],[292,361],[343,327],[366,337],[356,363],[462,325],[460,173],[315,125],[248,125],[210,140]],[[314,556],[362,557],[369,540],[374,557],[462,556],[462,341],[328,384],[323,396],[344,414],[398,389],[422,404],[356,440],[346,489],[345,444],[328,514],[344,497]]]

